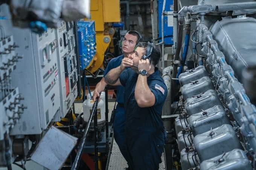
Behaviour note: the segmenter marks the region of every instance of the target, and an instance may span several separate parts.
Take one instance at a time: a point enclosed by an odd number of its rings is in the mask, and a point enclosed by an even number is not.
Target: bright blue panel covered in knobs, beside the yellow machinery
[[[78,21],[77,25],[80,69],[84,70],[96,54],[95,22]]]

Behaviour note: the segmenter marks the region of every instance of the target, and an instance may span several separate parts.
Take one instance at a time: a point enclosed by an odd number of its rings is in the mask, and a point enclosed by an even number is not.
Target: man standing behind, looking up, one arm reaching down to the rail
[[[104,77],[107,73],[117,66],[120,66],[122,59],[127,58],[130,54],[134,53],[134,48],[139,42],[143,41],[142,35],[134,30],[128,31],[124,38],[121,41],[123,55],[116,57],[108,63],[108,66],[104,72]],[[100,96],[100,93],[104,91],[107,83],[105,83],[105,78],[102,78],[101,81],[96,85],[95,90],[93,92],[93,101],[96,100],[97,97]],[[123,107],[123,86],[117,86],[117,106],[116,106],[116,113],[113,122],[113,131],[114,131],[114,139],[119,146],[120,152],[122,153],[123,157],[128,159],[126,148],[125,148],[125,110]]]

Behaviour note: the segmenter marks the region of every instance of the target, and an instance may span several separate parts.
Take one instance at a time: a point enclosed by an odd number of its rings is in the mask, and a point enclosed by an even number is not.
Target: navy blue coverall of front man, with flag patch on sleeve
[[[149,89],[155,95],[152,107],[138,106],[134,92],[138,75],[132,69],[123,71],[119,80],[125,86],[125,139],[128,165],[131,170],[158,170],[164,149],[162,109],[167,87],[158,68],[147,78]]]

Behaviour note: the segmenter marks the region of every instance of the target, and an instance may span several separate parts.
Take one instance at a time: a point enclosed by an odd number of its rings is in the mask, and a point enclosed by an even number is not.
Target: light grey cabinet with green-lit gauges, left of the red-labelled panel
[[[19,88],[27,108],[10,134],[40,134],[52,120],[60,119],[56,29],[35,34],[30,29],[12,27],[12,34],[19,45],[16,52],[23,54],[11,74],[12,86]]]

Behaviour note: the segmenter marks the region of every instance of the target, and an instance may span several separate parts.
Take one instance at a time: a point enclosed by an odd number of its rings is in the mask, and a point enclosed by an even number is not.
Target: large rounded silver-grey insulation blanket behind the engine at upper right
[[[218,21],[210,30],[219,50],[241,81],[242,69],[256,65],[256,19],[227,18]]]

